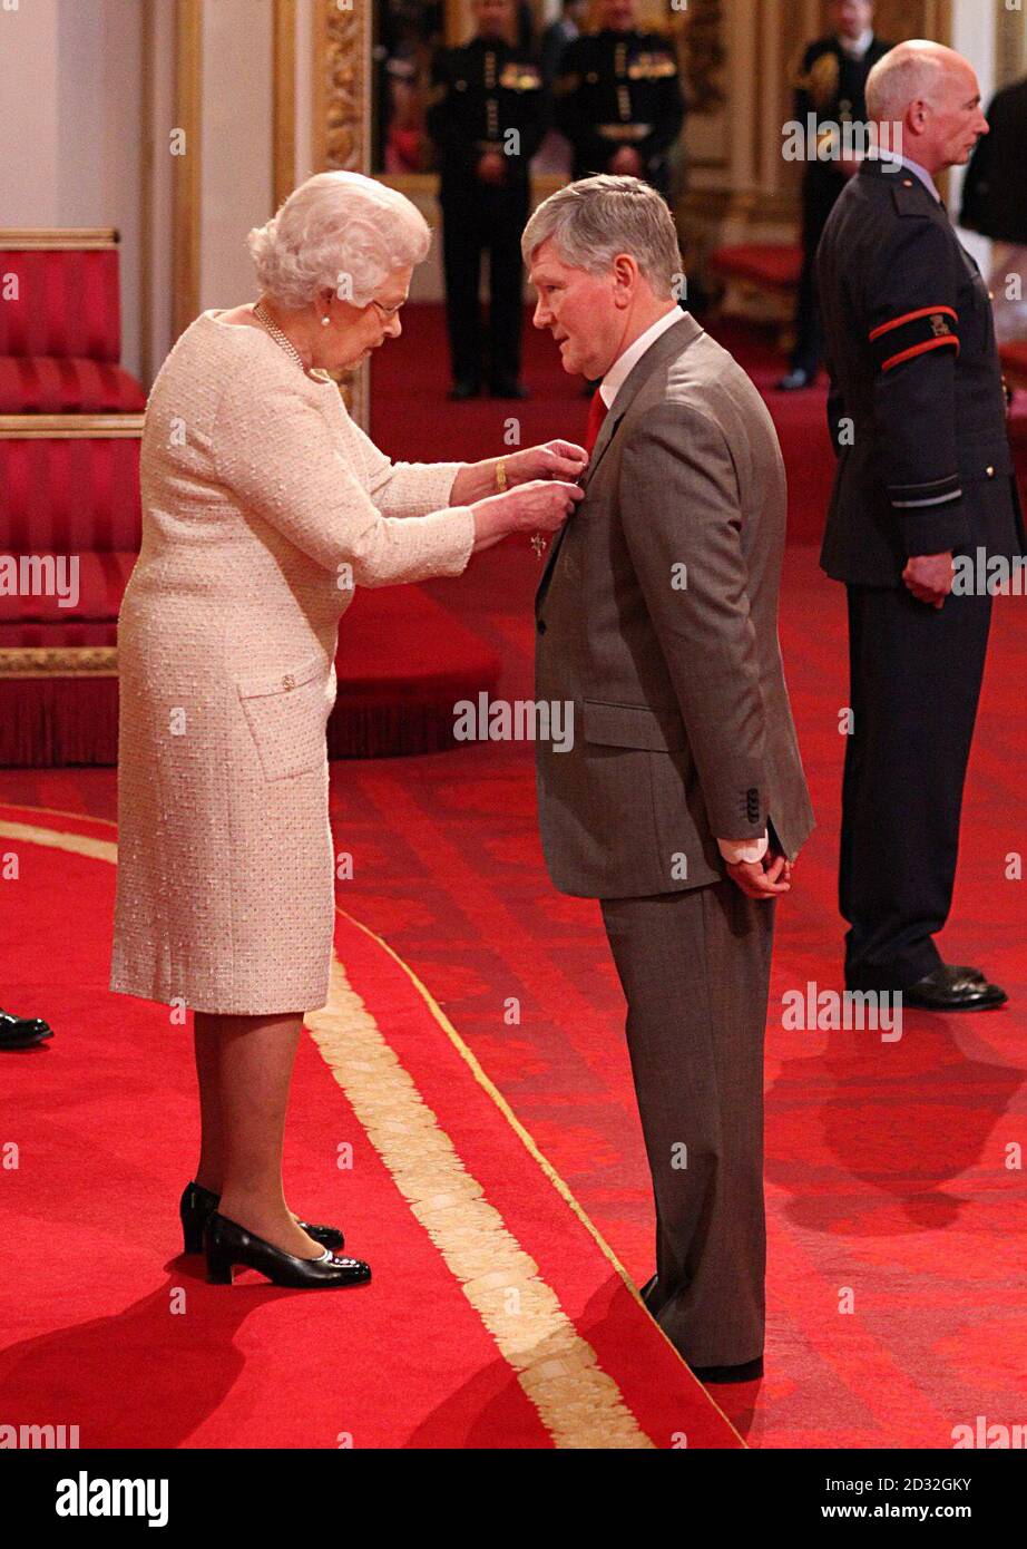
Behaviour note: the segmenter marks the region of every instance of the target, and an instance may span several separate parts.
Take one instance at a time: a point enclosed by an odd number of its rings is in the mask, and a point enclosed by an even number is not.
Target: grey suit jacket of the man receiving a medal
[[[573,702],[538,742],[542,847],[584,898],[726,875],[717,838],[813,827],[778,644],[787,488],[767,406],[682,313],[606,417],[586,499],[536,596],[536,697]]]

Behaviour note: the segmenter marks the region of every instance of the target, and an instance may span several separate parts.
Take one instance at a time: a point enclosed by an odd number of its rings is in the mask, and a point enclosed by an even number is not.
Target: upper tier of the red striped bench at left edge
[[[0,414],[138,414],[119,359],[118,232],[0,229]]]

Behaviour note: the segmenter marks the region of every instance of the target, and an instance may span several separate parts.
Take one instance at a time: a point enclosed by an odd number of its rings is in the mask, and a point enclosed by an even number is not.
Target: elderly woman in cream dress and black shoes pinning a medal
[[[327,370],[400,336],[429,231],[403,195],[310,178],[251,232],[256,305],[203,313],[143,435],[143,548],[119,620],[119,874],[112,988],[195,1016],[201,1148],[186,1252],[277,1284],[370,1278],[282,1188],[304,1011],[335,919],[325,722],[359,586],[460,575],[553,533],[581,491],[567,441],[480,463],[392,463]],[[508,486],[508,488],[507,488]]]

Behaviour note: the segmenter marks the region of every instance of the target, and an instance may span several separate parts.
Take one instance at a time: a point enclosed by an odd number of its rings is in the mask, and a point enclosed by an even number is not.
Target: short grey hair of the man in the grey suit
[[[682,274],[674,217],[641,178],[603,172],[550,194],[524,228],[520,251],[528,266],[550,240],[564,263],[586,274],[607,274],[618,252],[630,252],[660,296],[671,296]]]

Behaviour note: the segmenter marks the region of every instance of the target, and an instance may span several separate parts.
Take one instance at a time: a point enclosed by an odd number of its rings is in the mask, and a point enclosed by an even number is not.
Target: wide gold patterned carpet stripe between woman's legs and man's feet
[[[305,1018],[414,1216],[517,1376],[558,1448],[652,1448],[538,1266],[463,1166],[364,1001],[333,959]]]

